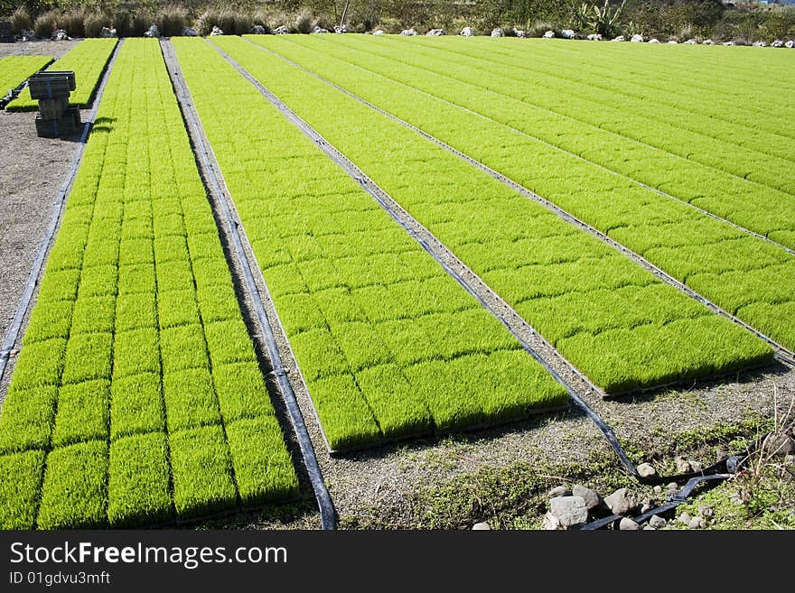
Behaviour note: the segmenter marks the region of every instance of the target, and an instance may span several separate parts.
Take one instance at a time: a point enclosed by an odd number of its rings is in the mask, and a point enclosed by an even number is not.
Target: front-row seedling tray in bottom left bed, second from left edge
[[[97,528],[107,522],[108,442],[91,440],[47,455],[40,529]]]

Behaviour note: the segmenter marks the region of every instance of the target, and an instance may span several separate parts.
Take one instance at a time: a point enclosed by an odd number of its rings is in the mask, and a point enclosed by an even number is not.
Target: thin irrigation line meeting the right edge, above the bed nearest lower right
[[[556,214],[557,217],[562,218],[563,220],[565,220],[570,225],[572,225],[574,227],[578,227],[580,230],[584,230],[585,232],[591,234],[592,236],[595,236],[595,237],[601,239],[607,245],[612,246],[614,249],[620,251],[623,255],[626,255],[627,257],[629,257],[636,264],[639,264],[642,267],[644,267],[646,270],[650,271],[651,273],[654,273],[654,275],[657,276],[663,282],[668,283],[669,285],[671,285],[674,288],[678,289],[678,291],[680,291],[680,292],[684,292],[685,294],[687,294],[687,296],[695,299],[696,301],[699,301],[702,304],[705,304],[709,309],[713,310],[714,312],[716,312],[717,314],[721,315],[722,317],[725,317],[728,320],[734,321],[734,323],[736,323],[737,325],[739,325],[742,328],[744,328],[744,329],[750,331],[751,333],[753,333],[753,335],[755,335],[757,338],[761,338],[762,340],[767,342],[770,346],[772,346],[775,349],[776,357],[779,360],[781,360],[781,362],[784,362],[784,363],[786,363],[789,366],[795,366],[795,353],[793,353],[789,348],[781,346],[781,344],[779,344],[778,342],[776,342],[772,338],[769,338],[768,336],[763,334],[758,329],[754,329],[753,327],[748,325],[744,320],[741,320],[738,317],[736,317],[735,315],[733,315],[732,313],[728,312],[727,310],[724,310],[723,308],[718,306],[716,303],[714,303],[712,301],[709,301],[708,299],[706,299],[706,297],[704,297],[701,294],[699,294],[698,292],[694,291],[689,286],[687,286],[685,283],[679,282],[676,278],[674,278],[673,276],[669,275],[669,273],[664,272],[658,266],[656,266],[655,264],[652,264],[649,260],[645,259],[642,255],[637,254],[634,251],[631,251],[631,249],[628,249],[625,246],[622,246],[622,244],[620,244],[618,241],[616,241],[615,239],[613,239],[610,236],[607,236],[606,234],[604,234],[602,231],[598,230],[597,228],[592,227],[591,225],[586,223],[584,220],[581,220],[580,218],[576,218],[574,215],[568,213],[563,208],[560,208],[556,204],[553,204],[551,201],[549,201],[546,198],[542,198],[537,193],[535,193],[535,192],[533,192],[531,190],[528,190],[523,185],[520,185],[516,181],[511,180],[510,178],[506,177],[505,175],[503,175],[499,171],[495,171],[495,170],[491,169],[491,167],[483,164],[482,162],[476,161],[475,159],[473,159],[468,154],[462,153],[461,151],[459,151],[458,149],[454,148],[450,144],[444,143],[442,140],[439,140],[435,136],[433,136],[431,134],[428,134],[424,130],[418,128],[416,125],[409,124],[407,121],[405,121],[405,120],[403,120],[403,119],[401,119],[401,118],[399,118],[397,116],[394,116],[394,115],[390,114],[388,111],[382,109],[381,107],[378,107],[377,105],[374,105],[373,103],[370,103],[367,99],[359,97],[358,95],[352,93],[351,91],[347,90],[346,88],[342,88],[340,85],[332,82],[329,79],[323,78],[319,74],[316,74],[316,73],[314,73],[313,71],[311,71],[309,69],[305,69],[300,64],[296,63],[293,60],[289,60],[288,58],[285,58],[284,56],[282,56],[279,53],[276,53],[274,51],[270,51],[267,48],[265,48],[265,47],[263,47],[261,45],[258,45],[257,43],[249,41],[248,39],[246,41],[248,41],[252,45],[260,48],[263,51],[267,51],[267,52],[275,55],[276,57],[281,58],[282,60],[285,60],[287,63],[292,64],[296,68],[303,70],[304,72],[306,72],[307,74],[310,74],[314,78],[323,81],[325,84],[331,86],[332,88],[336,88],[337,90],[339,90],[340,92],[344,93],[348,97],[356,99],[357,101],[359,101],[363,105],[366,105],[366,106],[370,107],[371,109],[374,109],[375,111],[377,111],[382,116],[387,116],[389,119],[397,122],[398,124],[403,125],[403,126],[407,127],[408,129],[412,130],[413,132],[416,132],[417,134],[422,135],[427,140],[430,140],[431,142],[433,142],[433,143],[441,146],[442,148],[444,148],[444,150],[446,150],[446,151],[448,151],[450,153],[454,153],[457,157],[463,159],[463,161],[469,162],[470,164],[472,164],[473,166],[477,167],[481,171],[487,173],[493,179],[495,179],[497,181],[500,181],[500,182],[504,183],[505,185],[508,185],[512,190],[518,191],[525,198],[532,199],[532,200],[538,202],[539,204],[541,204],[542,206],[544,206],[545,208],[547,208],[548,210],[550,210],[554,214]],[[730,224],[734,224],[734,223],[730,223]],[[751,231],[749,231],[749,232],[751,232]],[[778,245],[778,244],[776,244],[776,245]],[[786,249],[786,247],[783,247],[783,248]],[[787,249],[787,251],[791,251],[791,250]]]

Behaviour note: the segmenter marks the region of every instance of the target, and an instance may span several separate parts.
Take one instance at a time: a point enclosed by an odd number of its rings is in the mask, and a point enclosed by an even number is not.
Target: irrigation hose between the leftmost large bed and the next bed
[[[301,410],[298,407],[297,400],[295,399],[293,386],[290,385],[290,382],[287,378],[285,366],[282,362],[279,349],[276,345],[274,329],[270,321],[267,319],[265,306],[262,302],[259,291],[257,290],[257,283],[254,280],[254,274],[252,270],[257,269],[257,271],[259,271],[259,267],[252,266],[248,260],[248,256],[246,255],[246,250],[243,247],[243,240],[241,238],[241,232],[245,233],[245,231],[241,231],[237,222],[232,216],[231,208],[229,207],[229,198],[221,189],[219,176],[212,167],[212,162],[215,161],[215,156],[211,153],[212,149],[209,143],[205,143],[204,141],[201,122],[199,121],[198,114],[195,112],[191,91],[189,88],[187,88],[187,85],[181,76],[181,70],[179,68],[178,62],[175,56],[173,56],[173,45],[171,42],[161,42],[161,47],[163,48],[164,56],[166,57],[165,61],[169,67],[168,70],[173,81],[177,99],[179,101],[180,107],[182,107],[182,113],[185,115],[186,123],[190,125],[193,131],[192,135],[196,148],[195,153],[201,158],[201,168],[206,173],[206,179],[209,181],[210,185],[209,189],[211,193],[216,196],[216,203],[220,205],[220,209],[224,218],[226,219],[227,225],[229,226],[229,235],[231,236],[232,243],[235,246],[235,252],[238,256],[240,270],[243,273],[249,296],[253,301],[254,310],[257,313],[259,328],[262,330],[262,334],[265,338],[268,357],[270,357],[273,368],[272,375],[276,378],[276,382],[279,385],[279,389],[281,390],[284,397],[287,412],[290,416],[290,422],[293,424],[295,437],[298,440],[298,445],[301,449],[301,455],[304,458],[304,465],[312,484],[314,496],[317,499],[317,504],[321,514],[321,524],[323,529],[332,530],[336,524],[332,497],[323,481],[323,474],[321,473],[320,466],[318,465],[317,457],[314,454],[312,440],[309,437],[309,432],[306,430],[304,417],[301,415]],[[264,291],[266,292],[267,297],[270,298],[264,278],[260,277],[260,281],[265,287]]]

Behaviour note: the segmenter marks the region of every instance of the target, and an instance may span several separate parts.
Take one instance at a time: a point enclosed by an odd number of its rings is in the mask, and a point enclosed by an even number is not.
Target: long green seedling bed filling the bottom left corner
[[[157,42],[125,42],[97,122],[0,412],[0,528],[140,527],[294,496]],[[230,455],[235,422],[256,429]]]

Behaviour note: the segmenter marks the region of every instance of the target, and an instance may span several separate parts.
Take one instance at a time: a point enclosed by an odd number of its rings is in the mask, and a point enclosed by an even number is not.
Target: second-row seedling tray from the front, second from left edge
[[[110,382],[86,381],[63,385],[58,392],[58,413],[52,446],[108,439]]]

